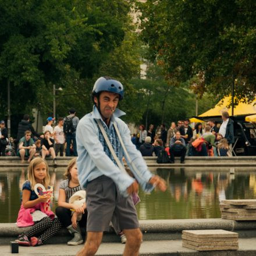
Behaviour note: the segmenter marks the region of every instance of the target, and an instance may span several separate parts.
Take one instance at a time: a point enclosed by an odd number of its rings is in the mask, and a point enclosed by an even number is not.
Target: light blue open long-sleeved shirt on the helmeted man
[[[135,145],[131,142],[129,128],[125,122],[119,119],[119,116],[122,115],[125,115],[125,112],[116,109],[112,115],[108,129],[111,129],[113,122],[116,123],[131,161],[140,171],[140,175],[137,175],[127,162],[131,172],[133,172],[134,177],[138,183],[140,183],[143,190],[151,191],[153,186],[148,183],[148,180],[150,180],[152,174],[148,170],[140,151],[138,151]],[[105,175],[110,177],[115,182],[120,193],[127,195],[126,189],[131,185],[131,183],[134,182],[134,179],[127,173],[122,172],[122,170],[120,170],[118,166],[116,166],[111,160],[111,158],[109,158],[104,152],[104,148],[99,141],[99,129],[95,119],[101,120],[102,125],[104,125],[105,128],[107,127],[105,122],[103,122],[96,106],[94,106],[93,112],[85,115],[77,125],[76,143],[78,153],[77,168],[79,172],[79,182],[81,186],[86,188],[88,182],[91,182],[91,180],[94,180],[99,176]],[[120,158],[122,158],[124,155],[122,147],[120,147],[118,150],[120,153]]]

